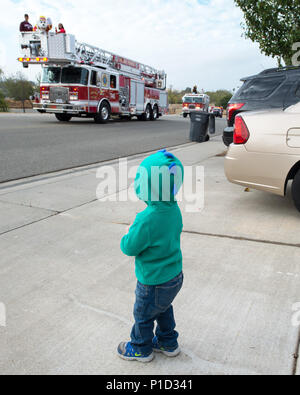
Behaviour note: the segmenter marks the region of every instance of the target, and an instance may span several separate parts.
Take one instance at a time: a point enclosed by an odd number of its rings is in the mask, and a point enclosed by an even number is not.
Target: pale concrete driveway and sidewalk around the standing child
[[[116,355],[129,340],[136,282],[119,242],[144,205],[98,201],[90,166],[0,185],[0,374],[300,374],[291,197],[228,183],[219,137],[171,151],[205,167],[204,210],[183,210],[181,355],[146,366]]]

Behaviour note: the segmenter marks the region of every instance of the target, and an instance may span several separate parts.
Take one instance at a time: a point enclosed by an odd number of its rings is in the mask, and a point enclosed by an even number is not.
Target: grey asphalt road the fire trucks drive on
[[[48,114],[0,114],[0,182],[98,163],[189,142],[189,120],[106,125],[74,118],[60,123]],[[223,132],[225,119],[217,119]]]

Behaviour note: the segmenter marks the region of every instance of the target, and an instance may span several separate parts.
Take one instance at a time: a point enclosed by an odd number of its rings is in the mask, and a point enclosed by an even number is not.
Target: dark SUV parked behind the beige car
[[[268,69],[241,81],[242,87],[227,107],[228,126],[223,132],[227,146],[233,142],[234,120],[241,112],[285,109],[300,100],[300,67]]]

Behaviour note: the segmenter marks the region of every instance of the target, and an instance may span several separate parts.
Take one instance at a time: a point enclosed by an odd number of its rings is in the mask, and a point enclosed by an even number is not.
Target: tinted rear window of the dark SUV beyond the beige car
[[[246,81],[234,98],[263,99],[270,96],[285,80],[284,76],[254,78]]]

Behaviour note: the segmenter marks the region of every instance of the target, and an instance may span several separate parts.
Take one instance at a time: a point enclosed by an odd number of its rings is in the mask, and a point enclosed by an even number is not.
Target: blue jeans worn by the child
[[[169,350],[178,347],[172,303],[182,284],[183,273],[161,285],[150,286],[137,282],[133,312],[135,324],[131,331],[131,344],[137,352],[143,355],[152,353],[154,321],[157,322],[155,335],[159,343]]]

